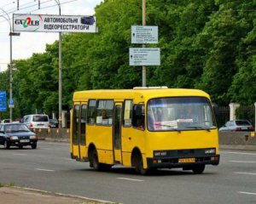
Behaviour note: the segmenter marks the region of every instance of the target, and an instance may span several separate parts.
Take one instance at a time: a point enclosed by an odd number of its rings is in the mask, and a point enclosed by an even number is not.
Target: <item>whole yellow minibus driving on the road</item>
[[[71,157],[96,170],[137,173],[218,165],[218,129],[209,95],[182,88],[89,90],[73,94]]]

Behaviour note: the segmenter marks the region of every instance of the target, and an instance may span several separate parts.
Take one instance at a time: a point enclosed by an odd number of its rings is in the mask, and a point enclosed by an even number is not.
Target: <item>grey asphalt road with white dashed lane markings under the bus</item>
[[[69,144],[39,141],[37,150],[0,146],[0,183],[125,204],[256,203],[256,152],[220,155],[220,164],[201,175],[165,169],[141,176],[121,166],[95,172],[70,159]]]

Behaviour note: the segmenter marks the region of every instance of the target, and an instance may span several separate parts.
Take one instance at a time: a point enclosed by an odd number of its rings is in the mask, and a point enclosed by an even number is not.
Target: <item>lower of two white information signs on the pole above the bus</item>
[[[130,65],[160,65],[160,48],[130,48]]]

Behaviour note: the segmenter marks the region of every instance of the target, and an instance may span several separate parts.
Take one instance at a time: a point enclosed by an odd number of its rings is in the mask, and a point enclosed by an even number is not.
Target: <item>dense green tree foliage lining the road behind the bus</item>
[[[148,0],[147,25],[159,26],[161,65],[147,67],[147,85],[201,88],[218,105],[256,100],[255,1]],[[96,7],[98,33],[62,34],[63,105],[73,92],[132,88],[142,68],[129,65],[131,26],[142,25],[142,2],[105,0]],[[58,110],[58,42],[15,61],[15,116]],[[9,71],[0,73],[9,91]],[[8,113],[2,113],[5,115]],[[7,115],[8,116],[8,115]]]

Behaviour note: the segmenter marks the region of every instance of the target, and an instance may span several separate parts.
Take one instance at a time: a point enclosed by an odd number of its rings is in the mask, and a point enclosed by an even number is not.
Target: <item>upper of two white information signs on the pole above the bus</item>
[[[157,44],[158,26],[131,26],[131,43]]]

